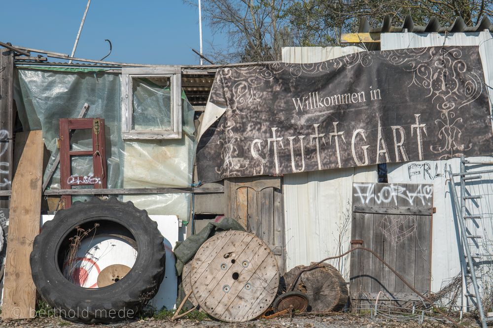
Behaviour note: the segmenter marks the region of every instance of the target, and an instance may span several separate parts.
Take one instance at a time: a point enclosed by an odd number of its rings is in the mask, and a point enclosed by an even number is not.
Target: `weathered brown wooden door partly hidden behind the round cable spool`
[[[226,216],[265,241],[285,271],[282,178],[230,178],[224,180]]]

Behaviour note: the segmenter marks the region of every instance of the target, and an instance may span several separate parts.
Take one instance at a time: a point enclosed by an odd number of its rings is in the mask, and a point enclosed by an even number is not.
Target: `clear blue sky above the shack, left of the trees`
[[[87,0],[2,1],[0,41],[69,54]],[[6,14],[8,13],[8,14]],[[225,38],[202,21],[204,53]],[[75,57],[149,64],[197,64],[198,8],[182,0],[92,0]]]

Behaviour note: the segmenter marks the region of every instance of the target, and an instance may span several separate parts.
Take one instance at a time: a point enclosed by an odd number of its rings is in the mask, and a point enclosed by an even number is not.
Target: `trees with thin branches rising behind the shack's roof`
[[[196,5],[196,0],[183,0]],[[226,47],[213,47],[217,62],[281,60],[283,46],[330,46],[357,30],[362,17],[378,26],[389,15],[400,25],[406,15],[425,25],[462,17],[469,26],[493,16],[493,0],[202,0],[212,30],[224,32]]]

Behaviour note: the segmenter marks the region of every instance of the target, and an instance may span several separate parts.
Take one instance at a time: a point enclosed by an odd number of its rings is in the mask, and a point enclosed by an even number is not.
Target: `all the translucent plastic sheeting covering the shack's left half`
[[[195,154],[194,110],[182,94],[182,138],[133,140],[121,138],[121,79],[107,72],[67,72],[17,69],[14,97],[25,131],[42,130],[51,156],[44,179],[58,155],[59,119],[76,118],[84,103],[90,105],[86,118],[104,118],[108,188],[188,187],[192,182]],[[134,121],[140,126],[166,128],[170,120],[170,92],[166,86],[137,83],[134,88]],[[91,149],[89,131],[77,130],[70,139],[71,149]],[[90,156],[72,157],[72,173],[90,175]],[[90,187],[90,186],[83,186]],[[48,188],[60,188],[60,169]],[[78,198],[81,199],[81,198]],[[190,194],[125,195],[149,214],[178,215],[188,220]],[[75,198],[77,200],[77,198]]]

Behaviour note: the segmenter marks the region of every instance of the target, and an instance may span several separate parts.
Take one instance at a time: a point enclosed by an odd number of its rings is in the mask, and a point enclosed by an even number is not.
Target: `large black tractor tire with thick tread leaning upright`
[[[125,277],[93,289],[77,286],[63,274],[69,238],[78,229],[91,226],[97,227],[94,234],[110,233],[135,240],[138,251]],[[137,209],[132,202],[95,197],[73,203],[46,222],[34,240],[30,260],[36,289],[57,315],[76,323],[109,323],[135,318],[154,297],[164,277],[165,248],[157,223],[145,210]]]

